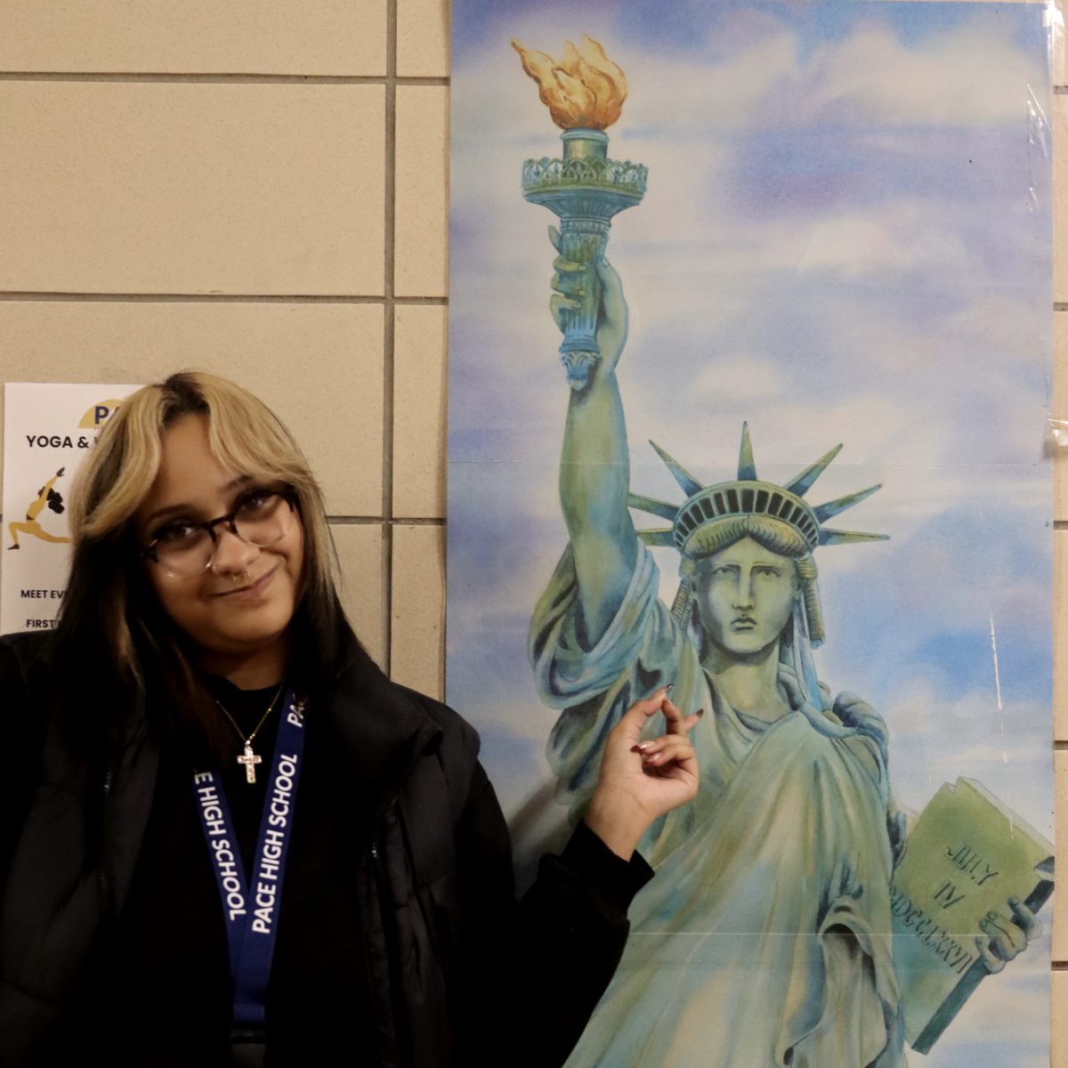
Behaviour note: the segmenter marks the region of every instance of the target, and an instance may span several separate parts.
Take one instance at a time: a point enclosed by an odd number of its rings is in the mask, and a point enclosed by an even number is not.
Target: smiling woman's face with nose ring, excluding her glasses
[[[226,515],[250,489],[242,472],[226,470],[211,455],[206,417],[179,417],[161,443],[159,473],[135,517],[142,547],[169,524]],[[284,657],[303,569],[299,516],[294,513],[281,540],[264,549],[242,541],[224,523],[215,533],[211,565],[195,577],[176,578],[145,561],[160,604],[199,647],[208,670],[272,651]]]

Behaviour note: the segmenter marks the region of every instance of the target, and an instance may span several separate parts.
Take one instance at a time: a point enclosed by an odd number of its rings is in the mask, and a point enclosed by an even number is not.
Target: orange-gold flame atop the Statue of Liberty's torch
[[[583,34],[578,48],[568,41],[559,63],[545,52],[523,48],[518,41],[513,41],[512,47],[519,52],[523,69],[538,83],[541,103],[562,129],[602,130],[619,117],[627,98],[627,78],[593,37]]]

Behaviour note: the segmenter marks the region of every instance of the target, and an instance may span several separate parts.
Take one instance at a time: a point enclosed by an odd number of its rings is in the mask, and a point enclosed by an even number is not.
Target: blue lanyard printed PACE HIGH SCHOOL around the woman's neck
[[[246,879],[219,775],[214,771],[193,774],[193,796],[226,922],[230,971],[234,979],[234,1027],[238,1030],[262,1028],[266,1020],[267,983],[274,956],[282,880],[293,836],[297,780],[304,748],[305,708],[305,702],[294,698],[292,688],[286,690],[251,882]]]

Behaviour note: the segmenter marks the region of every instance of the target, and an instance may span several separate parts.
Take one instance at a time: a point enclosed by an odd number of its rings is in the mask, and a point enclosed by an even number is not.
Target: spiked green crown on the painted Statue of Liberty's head
[[[826,520],[851,508],[854,504],[860,504],[866,497],[881,489],[881,484],[828,501],[827,504],[813,506],[804,500],[804,494],[812,488],[813,483],[842,451],[841,444],[835,445],[815,464],[806,467],[782,486],[757,477],[748,423],[743,423],[741,427],[738,477],[734,482],[703,486],[655,441],[650,441],[649,444],[675,476],[687,498],[681,504],[671,504],[639,493],[628,494],[627,503],[632,508],[649,512],[672,522],[671,527],[639,531],[639,537],[646,545],[674,546],[682,555],[689,555],[687,549],[697,531],[709,523],[743,516],[767,516],[787,523],[804,538],[810,552],[821,545],[880,541],[886,537],[885,534],[831,530],[823,525]]]

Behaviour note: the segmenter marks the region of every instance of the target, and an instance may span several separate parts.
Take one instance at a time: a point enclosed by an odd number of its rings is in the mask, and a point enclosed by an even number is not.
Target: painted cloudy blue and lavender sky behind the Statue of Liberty
[[[508,42],[559,54],[590,33],[630,83],[610,155],[649,168],[608,250],[631,310],[632,488],[680,499],[650,438],[704,481],[732,475],[743,420],[773,481],[844,442],[810,497],[881,482],[839,524],[891,540],[817,553],[821,677],[886,718],[907,806],[970,775],[1049,833],[1041,10],[454,0],[453,20],[447,690],[505,811],[548,781],[525,632],[565,544],[568,392],[553,219],[519,188],[559,131]],[[992,1063],[962,1032],[927,1063]]]

